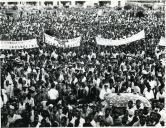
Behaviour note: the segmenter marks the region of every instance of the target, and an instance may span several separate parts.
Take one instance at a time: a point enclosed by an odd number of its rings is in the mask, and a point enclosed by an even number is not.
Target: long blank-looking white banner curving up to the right
[[[140,39],[145,38],[145,32],[144,30],[140,31],[139,33],[128,37],[126,39],[120,39],[120,40],[111,40],[111,39],[105,39],[101,37],[96,37],[96,41],[98,45],[106,45],[106,46],[119,46],[119,45],[124,45],[128,44]]]

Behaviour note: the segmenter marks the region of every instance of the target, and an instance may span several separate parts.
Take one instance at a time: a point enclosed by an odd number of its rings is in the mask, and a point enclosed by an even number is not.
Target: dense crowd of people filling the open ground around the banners
[[[22,11],[2,17],[1,40],[38,38],[39,48],[1,50],[1,124],[5,127],[164,126],[165,66],[159,47],[164,19],[149,12],[103,9]],[[135,10],[136,11],[136,10]],[[127,46],[98,46],[95,36],[120,39],[141,30],[146,37]],[[56,48],[59,39],[81,36],[81,46]],[[102,104],[110,93],[133,93],[151,103]]]

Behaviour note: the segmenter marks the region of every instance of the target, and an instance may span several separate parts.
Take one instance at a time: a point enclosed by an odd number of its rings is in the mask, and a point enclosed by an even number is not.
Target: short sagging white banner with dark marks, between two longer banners
[[[59,40],[50,35],[47,35],[47,34],[44,34],[44,35],[45,35],[45,42],[49,45],[53,45],[56,47],[79,47],[80,46],[81,37],[68,39],[68,40]]]

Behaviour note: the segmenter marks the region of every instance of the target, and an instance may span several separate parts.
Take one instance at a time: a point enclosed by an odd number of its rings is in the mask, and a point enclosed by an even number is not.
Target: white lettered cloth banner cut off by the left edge
[[[31,49],[39,47],[36,39],[22,41],[0,41],[0,49]]]

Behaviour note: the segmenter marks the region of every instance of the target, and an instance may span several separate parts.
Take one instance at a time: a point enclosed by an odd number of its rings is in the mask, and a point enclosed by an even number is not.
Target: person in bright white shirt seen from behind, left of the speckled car
[[[51,89],[48,91],[49,103],[55,105],[58,102],[59,92],[55,89],[55,84],[51,84]]]

